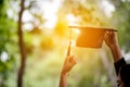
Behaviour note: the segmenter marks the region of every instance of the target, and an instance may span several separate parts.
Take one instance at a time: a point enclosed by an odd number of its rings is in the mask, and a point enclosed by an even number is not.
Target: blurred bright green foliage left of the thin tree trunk
[[[8,80],[15,74],[15,60],[18,55],[16,22],[10,18],[6,12],[9,7],[11,7],[10,2],[10,0],[0,0],[0,87],[9,87],[11,85]],[[15,79],[13,80],[15,82]]]

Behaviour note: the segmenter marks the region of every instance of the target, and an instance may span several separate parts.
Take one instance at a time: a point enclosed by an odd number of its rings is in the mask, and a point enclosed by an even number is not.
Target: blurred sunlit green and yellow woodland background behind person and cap
[[[0,0],[0,87],[58,87],[69,44],[68,25],[118,30],[130,60],[130,0]],[[68,87],[116,87],[109,49],[75,46],[78,64]]]

